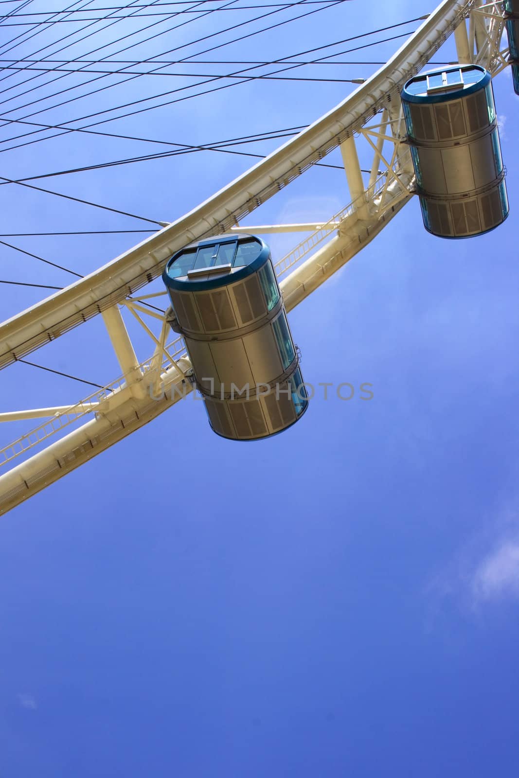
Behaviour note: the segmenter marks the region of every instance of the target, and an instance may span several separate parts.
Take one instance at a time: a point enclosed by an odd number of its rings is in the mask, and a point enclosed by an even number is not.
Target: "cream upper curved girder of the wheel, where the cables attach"
[[[359,131],[418,72],[475,5],[444,0],[405,44],[346,100],[231,184],[96,272],[0,325],[0,368],[102,310],[163,272],[167,258],[191,240],[224,233],[308,167]],[[376,219],[375,219],[376,220]]]

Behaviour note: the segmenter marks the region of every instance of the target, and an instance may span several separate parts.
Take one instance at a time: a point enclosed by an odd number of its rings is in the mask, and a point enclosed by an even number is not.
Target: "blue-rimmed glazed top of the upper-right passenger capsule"
[[[445,103],[479,92],[490,81],[481,65],[450,65],[414,75],[405,82],[401,97],[407,103]]]

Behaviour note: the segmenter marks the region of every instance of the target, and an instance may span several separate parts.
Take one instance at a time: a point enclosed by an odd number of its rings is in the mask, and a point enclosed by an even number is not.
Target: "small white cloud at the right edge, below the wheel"
[[[472,589],[479,600],[519,598],[519,541],[504,541],[480,562]]]

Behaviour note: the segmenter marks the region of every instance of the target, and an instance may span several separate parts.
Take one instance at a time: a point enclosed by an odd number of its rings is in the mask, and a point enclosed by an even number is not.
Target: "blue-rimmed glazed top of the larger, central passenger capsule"
[[[167,262],[163,282],[184,292],[216,289],[257,272],[269,257],[270,250],[261,238],[219,235],[177,251]]]

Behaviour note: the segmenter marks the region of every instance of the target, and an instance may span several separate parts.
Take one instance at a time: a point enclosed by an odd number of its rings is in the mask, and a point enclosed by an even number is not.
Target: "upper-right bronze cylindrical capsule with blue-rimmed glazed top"
[[[492,80],[479,65],[416,75],[402,89],[426,230],[481,235],[508,216]]]

